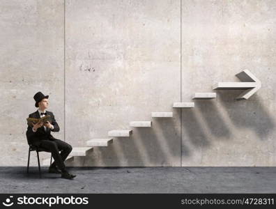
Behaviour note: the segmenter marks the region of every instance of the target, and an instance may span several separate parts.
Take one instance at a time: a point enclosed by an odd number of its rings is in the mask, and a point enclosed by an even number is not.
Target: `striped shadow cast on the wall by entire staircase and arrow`
[[[174,118],[152,118],[152,127],[132,127],[133,135],[129,138],[114,137],[113,144],[94,148],[86,156],[86,163],[79,163],[83,166],[100,162],[102,167],[146,167],[178,166],[179,162],[181,166],[181,157],[192,155],[188,144],[195,147],[211,146],[211,139],[207,136],[231,139],[231,130],[222,118],[220,108],[224,108],[233,125],[252,129],[261,140],[265,140],[275,127],[273,120],[258,95],[253,95],[249,100],[236,101],[240,92],[217,91],[217,100],[195,101],[192,109],[174,109]],[[181,114],[182,127],[178,123]],[[183,130],[182,155],[180,128]]]

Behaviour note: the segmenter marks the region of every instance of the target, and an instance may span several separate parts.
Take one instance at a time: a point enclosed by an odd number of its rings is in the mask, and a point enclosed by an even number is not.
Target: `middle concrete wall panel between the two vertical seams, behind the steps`
[[[66,1],[66,141],[84,146],[180,100],[180,1]],[[165,14],[165,15],[164,15]],[[77,131],[79,130],[79,131]],[[180,166],[180,118],[70,165]]]

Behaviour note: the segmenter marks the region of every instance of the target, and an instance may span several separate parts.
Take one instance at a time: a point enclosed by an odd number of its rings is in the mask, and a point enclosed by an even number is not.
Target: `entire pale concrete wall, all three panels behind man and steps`
[[[36,110],[36,91],[49,94],[54,136],[72,146],[174,111],[70,166],[276,165],[276,1],[0,3],[1,165],[26,164],[22,118]],[[250,100],[217,91],[194,109],[171,108],[245,68],[263,84]]]

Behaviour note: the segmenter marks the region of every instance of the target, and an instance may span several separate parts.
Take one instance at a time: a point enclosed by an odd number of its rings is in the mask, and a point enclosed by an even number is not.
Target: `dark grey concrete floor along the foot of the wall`
[[[1,193],[276,193],[276,167],[0,167]]]

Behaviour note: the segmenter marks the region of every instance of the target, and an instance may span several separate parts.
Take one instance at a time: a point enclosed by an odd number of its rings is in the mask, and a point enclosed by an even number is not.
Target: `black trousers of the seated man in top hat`
[[[51,151],[54,157],[54,162],[51,166],[57,166],[61,171],[65,171],[66,166],[64,161],[72,151],[72,146],[70,146],[70,144],[60,139],[43,139],[39,142],[38,146]],[[61,153],[59,153],[60,150]]]

